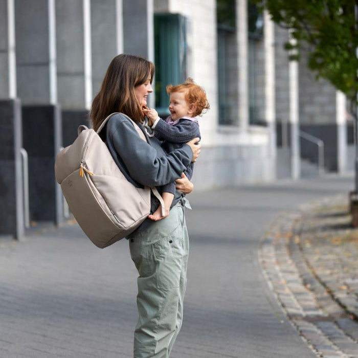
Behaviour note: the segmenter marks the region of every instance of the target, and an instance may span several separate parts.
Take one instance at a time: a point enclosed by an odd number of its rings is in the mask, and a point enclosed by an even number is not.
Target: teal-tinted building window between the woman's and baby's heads
[[[168,84],[187,78],[188,20],[179,14],[154,14],[155,108],[169,115]]]

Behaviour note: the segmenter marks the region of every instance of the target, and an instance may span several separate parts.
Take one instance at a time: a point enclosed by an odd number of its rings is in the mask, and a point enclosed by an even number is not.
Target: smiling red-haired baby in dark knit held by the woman
[[[170,95],[170,116],[164,121],[158,117],[158,112],[150,108],[146,111],[148,124],[154,129],[154,135],[163,141],[163,148],[170,152],[182,147],[193,138],[201,138],[198,116],[210,105],[203,87],[198,86],[192,78],[185,83],[176,86],[168,85],[167,93]],[[193,175],[193,163],[184,171],[190,180]],[[160,220],[169,215],[169,209],[173,202],[175,182],[162,187],[162,197],[165,204],[165,215],[162,216],[161,206],[148,217],[152,220]]]

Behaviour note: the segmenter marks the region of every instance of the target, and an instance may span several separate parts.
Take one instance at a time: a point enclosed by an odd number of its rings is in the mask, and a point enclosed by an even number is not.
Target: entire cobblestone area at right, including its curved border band
[[[281,214],[260,249],[288,318],[322,357],[358,358],[358,229],[348,195]]]

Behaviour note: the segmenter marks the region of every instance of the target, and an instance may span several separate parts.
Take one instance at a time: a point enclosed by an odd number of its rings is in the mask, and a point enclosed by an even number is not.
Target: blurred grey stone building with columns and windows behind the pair
[[[195,190],[351,169],[345,97],[289,62],[288,40],[250,0],[0,0],[0,233],[68,215],[55,156],[120,53],[155,63],[162,116],[167,84],[206,89]]]

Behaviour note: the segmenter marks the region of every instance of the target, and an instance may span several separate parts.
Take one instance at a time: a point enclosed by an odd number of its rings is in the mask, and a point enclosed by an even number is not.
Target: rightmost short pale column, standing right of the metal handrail
[[[335,93],[335,120],[337,122],[337,171],[343,173],[347,168],[347,122],[346,96],[337,91]]]

